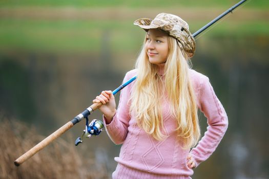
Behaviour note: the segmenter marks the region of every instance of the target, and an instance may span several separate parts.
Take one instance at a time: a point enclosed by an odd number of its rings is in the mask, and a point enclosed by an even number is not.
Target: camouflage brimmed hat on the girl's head
[[[189,31],[189,25],[176,15],[160,13],[153,20],[150,18],[137,19],[134,21],[134,25],[139,26],[145,31],[161,29],[176,38],[179,44],[181,44],[180,48],[187,52],[189,57],[195,54],[196,44]]]

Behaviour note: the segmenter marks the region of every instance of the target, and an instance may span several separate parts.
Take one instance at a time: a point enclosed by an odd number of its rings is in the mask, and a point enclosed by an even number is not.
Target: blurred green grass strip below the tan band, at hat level
[[[192,21],[192,32],[207,21]],[[98,53],[105,44],[117,52],[140,46],[144,32],[131,21],[0,19],[0,50]],[[223,21],[203,38],[268,36],[265,21]]]

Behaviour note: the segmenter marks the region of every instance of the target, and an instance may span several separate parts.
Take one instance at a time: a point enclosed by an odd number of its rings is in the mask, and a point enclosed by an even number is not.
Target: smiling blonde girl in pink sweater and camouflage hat
[[[222,139],[225,110],[208,77],[190,69],[195,40],[184,20],[161,13],[134,25],[147,33],[136,68],[123,82],[137,79],[122,89],[117,110],[111,91],[93,100],[103,104],[109,137],[122,144],[112,177],[191,178]],[[209,124],[200,141],[197,108]]]

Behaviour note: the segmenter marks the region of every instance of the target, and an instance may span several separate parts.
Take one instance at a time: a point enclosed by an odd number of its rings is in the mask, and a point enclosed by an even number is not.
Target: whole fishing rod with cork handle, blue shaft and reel
[[[197,36],[198,34],[200,34],[201,32],[203,32],[205,29],[207,29],[210,26],[212,26],[214,23],[216,23],[216,21],[218,21],[219,19],[221,19],[226,14],[232,12],[235,8],[237,8],[238,6],[240,6],[245,1],[246,0],[242,0],[239,3],[237,3],[236,5],[234,5],[233,7],[231,7],[230,9],[226,10],[224,13],[222,13],[221,15],[219,15],[218,17],[216,17],[210,23],[206,24],[201,29],[199,29],[197,32],[195,32],[193,34],[193,37]],[[120,85],[119,87],[117,87],[112,92],[112,94],[113,95],[117,94],[121,89],[123,89],[128,84],[130,84],[131,82],[133,82],[135,79],[136,79],[136,76],[134,76],[133,78],[131,78],[127,82],[123,83],[122,85]],[[80,122],[82,119],[86,119],[86,127],[85,127],[85,130],[82,133],[81,138],[83,138],[84,136],[86,136],[87,138],[90,138],[91,136],[97,136],[97,135],[99,135],[99,133],[101,132],[101,129],[104,128],[104,124],[101,121],[96,120],[96,119],[94,119],[89,124],[88,116],[91,115],[93,113],[93,111],[96,110],[96,109],[98,109],[101,105],[102,105],[101,102],[99,102],[99,103],[93,103],[91,106],[89,106],[87,109],[85,109],[82,113],[80,113],[79,115],[77,115],[76,117],[74,117],[74,119],[72,119],[71,121],[69,121],[65,125],[61,126],[58,130],[56,130],[55,132],[53,132],[50,136],[48,136],[43,141],[39,142],[33,148],[31,148],[30,150],[28,150],[27,152],[25,152],[23,155],[21,155],[18,159],[16,159],[14,161],[14,164],[16,166],[19,166],[20,164],[24,163],[26,160],[28,160],[29,158],[31,158],[35,153],[37,153],[39,150],[42,150],[47,145],[49,145],[52,141],[54,141],[55,139],[57,139],[58,137],[60,137],[61,135],[63,135],[63,133],[65,133],[67,130],[69,130],[71,127],[73,127],[76,123]],[[79,143],[82,143],[83,142],[81,140],[81,138],[77,138],[77,140],[75,141],[75,145],[78,145]]]

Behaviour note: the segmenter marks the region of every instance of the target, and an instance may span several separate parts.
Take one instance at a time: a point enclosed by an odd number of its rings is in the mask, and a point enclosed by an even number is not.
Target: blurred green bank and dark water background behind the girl
[[[173,13],[194,33],[237,2],[0,0],[0,113],[48,136],[134,68],[145,35],[134,20]],[[267,0],[249,0],[196,38],[193,69],[210,78],[229,128],[193,178],[269,178],[268,8]],[[84,125],[68,132],[75,139]],[[119,149],[106,132],[75,148],[104,164],[108,178]]]

